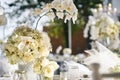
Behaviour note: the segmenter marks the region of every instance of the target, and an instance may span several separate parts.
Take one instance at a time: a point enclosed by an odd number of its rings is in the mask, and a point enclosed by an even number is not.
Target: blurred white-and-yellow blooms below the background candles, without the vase
[[[84,30],[84,37],[88,37],[88,31],[90,29],[90,39],[92,40],[99,40],[107,37],[114,39],[119,35],[119,26],[119,22],[115,22],[106,13],[90,16]]]

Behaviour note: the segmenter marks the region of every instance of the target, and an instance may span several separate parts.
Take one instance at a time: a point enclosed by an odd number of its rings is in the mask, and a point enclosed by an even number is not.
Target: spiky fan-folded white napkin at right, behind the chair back
[[[117,64],[120,64],[120,59],[118,56],[107,49],[99,42],[95,42],[97,45],[98,50],[93,49],[92,51],[88,51],[91,55],[84,59],[85,64],[91,65],[92,63],[99,63],[100,64],[100,72],[105,73],[109,72],[109,68],[114,67]]]

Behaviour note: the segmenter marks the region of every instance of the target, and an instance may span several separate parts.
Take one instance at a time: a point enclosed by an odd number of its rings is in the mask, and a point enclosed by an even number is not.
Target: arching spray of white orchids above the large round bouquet
[[[44,13],[40,16],[39,20],[42,16],[46,15],[52,21],[57,17],[58,19],[64,19],[65,23],[67,20],[71,19],[73,20],[73,23],[75,23],[77,20],[78,10],[74,5],[73,0],[53,0],[51,3],[44,5],[41,10],[36,9],[34,13],[40,15],[41,13]]]

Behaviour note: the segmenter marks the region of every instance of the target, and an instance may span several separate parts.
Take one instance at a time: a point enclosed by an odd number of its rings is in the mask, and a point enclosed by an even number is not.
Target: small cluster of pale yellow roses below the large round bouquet
[[[37,60],[34,65],[34,72],[42,74],[45,78],[51,78],[54,71],[58,69],[58,64],[55,61],[49,61],[47,58],[42,57]]]

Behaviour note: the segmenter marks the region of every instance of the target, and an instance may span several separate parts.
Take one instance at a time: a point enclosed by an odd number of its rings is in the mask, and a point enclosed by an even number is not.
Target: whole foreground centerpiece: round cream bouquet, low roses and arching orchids
[[[4,52],[11,64],[33,63],[35,73],[44,76],[45,79],[50,79],[59,66],[55,61],[47,59],[52,47],[48,35],[37,31],[38,22],[43,16],[47,15],[51,20],[57,17],[58,19],[64,19],[64,22],[72,19],[75,23],[78,10],[73,0],[54,0],[44,5],[42,10],[36,10],[35,13],[39,14],[35,29],[28,26],[16,28],[4,45]],[[22,69],[26,66],[22,66]],[[29,80],[32,79],[29,78]]]

